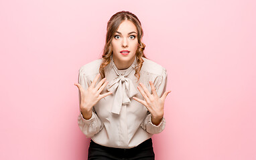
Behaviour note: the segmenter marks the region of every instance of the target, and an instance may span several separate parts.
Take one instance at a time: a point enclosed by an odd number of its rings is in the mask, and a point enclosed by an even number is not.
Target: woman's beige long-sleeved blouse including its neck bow
[[[166,120],[163,118],[159,125],[153,125],[151,113],[144,105],[132,98],[135,96],[144,99],[137,89],[139,83],[143,83],[151,93],[149,81],[152,81],[159,97],[162,97],[166,91],[166,69],[149,59],[143,58],[143,60],[140,79],[137,82],[137,77],[134,75],[137,58],[128,69],[119,70],[111,56],[111,63],[105,67],[105,75],[109,83],[102,94],[108,91],[113,93],[94,105],[90,119],[84,119],[81,112],[78,115],[78,126],[82,133],[95,143],[127,149],[139,145],[153,134],[164,130]],[[85,90],[99,74],[101,61],[102,59],[97,59],[80,67],[78,83]],[[97,83],[99,81],[101,77]],[[80,104],[80,91],[78,93]]]

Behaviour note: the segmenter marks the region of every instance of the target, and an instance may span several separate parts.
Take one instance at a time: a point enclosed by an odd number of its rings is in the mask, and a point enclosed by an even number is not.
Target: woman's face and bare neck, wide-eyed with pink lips
[[[111,45],[113,61],[118,69],[127,69],[133,63],[139,44],[137,33],[135,25],[131,21],[125,20],[114,34]]]

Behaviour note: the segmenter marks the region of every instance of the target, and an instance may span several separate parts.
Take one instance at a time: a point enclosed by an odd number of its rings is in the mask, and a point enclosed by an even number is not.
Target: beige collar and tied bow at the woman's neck
[[[117,77],[115,77],[109,83],[109,87],[107,87],[107,90],[112,91],[112,93],[116,91],[112,105],[112,113],[119,115],[122,105],[131,103],[130,98],[138,93],[137,89],[133,85],[133,81],[127,77],[135,69],[136,64],[137,57],[135,57],[133,64],[126,69],[125,74],[121,75],[113,61],[113,58],[111,59],[111,69],[113,68],[115,73],[117,73]]]

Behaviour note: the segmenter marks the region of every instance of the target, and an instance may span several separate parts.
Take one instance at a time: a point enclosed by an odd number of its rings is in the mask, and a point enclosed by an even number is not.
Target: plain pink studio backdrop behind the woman
[[[101,57],[117,11],[141,20],[166,67],[156,159],[256,159],[255,1],[0,1],[0,159],[86,159],[78,69]]]

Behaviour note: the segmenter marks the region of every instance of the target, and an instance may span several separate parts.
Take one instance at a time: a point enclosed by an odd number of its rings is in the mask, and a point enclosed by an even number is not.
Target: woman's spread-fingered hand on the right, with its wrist
[[[142,83],[139,83],[141,87],[137,87],[139,89],[139,92],[144,97],[145,101],[138,99],[137,97],[133,97],[136,101],[139,103],[145,105],[147,107],[147,110],[151,113],[151,121],[154,125],[159,125],[159,123],[162,121],[162,118],[164,117],[164,101],[166,100],[166,96],[171,91],[166,91],[161,98],[158,97],[157,92],[155,90],[155,86],[151,81],[149,81],[152,94],[149,93],[145,85]]]

